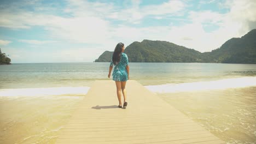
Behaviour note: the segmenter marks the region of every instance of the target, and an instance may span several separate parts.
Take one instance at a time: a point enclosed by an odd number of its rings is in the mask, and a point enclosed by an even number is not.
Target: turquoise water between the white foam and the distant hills
[[[108,80],[109,63],[26,63],[0,65],[0,88],[90,87]],[[256,76],[255,64],[130,63],[130,79],[142,85]]]

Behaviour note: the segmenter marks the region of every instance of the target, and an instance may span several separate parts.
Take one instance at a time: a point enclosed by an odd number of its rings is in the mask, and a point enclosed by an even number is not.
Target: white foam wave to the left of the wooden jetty
[[[0,89],[0,97],[8,96],[45,96],[45,95],[84,95],[90,87],[49,87],[49,88],[16,88]]]

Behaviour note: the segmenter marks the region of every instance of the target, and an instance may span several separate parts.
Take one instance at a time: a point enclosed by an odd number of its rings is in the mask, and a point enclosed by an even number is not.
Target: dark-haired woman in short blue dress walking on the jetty
[[[127,55],[124,53],[124,49],[125,47],[123,43],[118,43],[117,46],[115,46],[115,51],[110,60],[109,73],[108,73],[108,78],[109,78],[113,65],[115,65],[112,76],[113,76],[113,80],[115,81],[115,85],[117,86],[117,95],[118,95],[118,101],[119,101],[118,107],[120,108],[122,107],[121,91],[123,92],[123,96],[124,96],[124,108],[126,108],[127,106],[125,85],[126,85],[126,81],[130,79],[129,62],[128,62]]]

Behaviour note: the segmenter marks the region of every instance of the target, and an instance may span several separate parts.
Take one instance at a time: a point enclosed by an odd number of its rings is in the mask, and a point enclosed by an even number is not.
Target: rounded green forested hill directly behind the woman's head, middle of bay
[[[197,62],[200,52],[167,41],[133,42],[124,51],[129,62]],[[105,51],[95,62],[110,62],[113,52]]]

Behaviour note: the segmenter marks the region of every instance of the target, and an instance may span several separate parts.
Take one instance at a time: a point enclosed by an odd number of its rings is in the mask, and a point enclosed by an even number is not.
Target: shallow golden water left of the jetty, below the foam
[[[1,143],[55,143],[83,97],[1,97]]]

